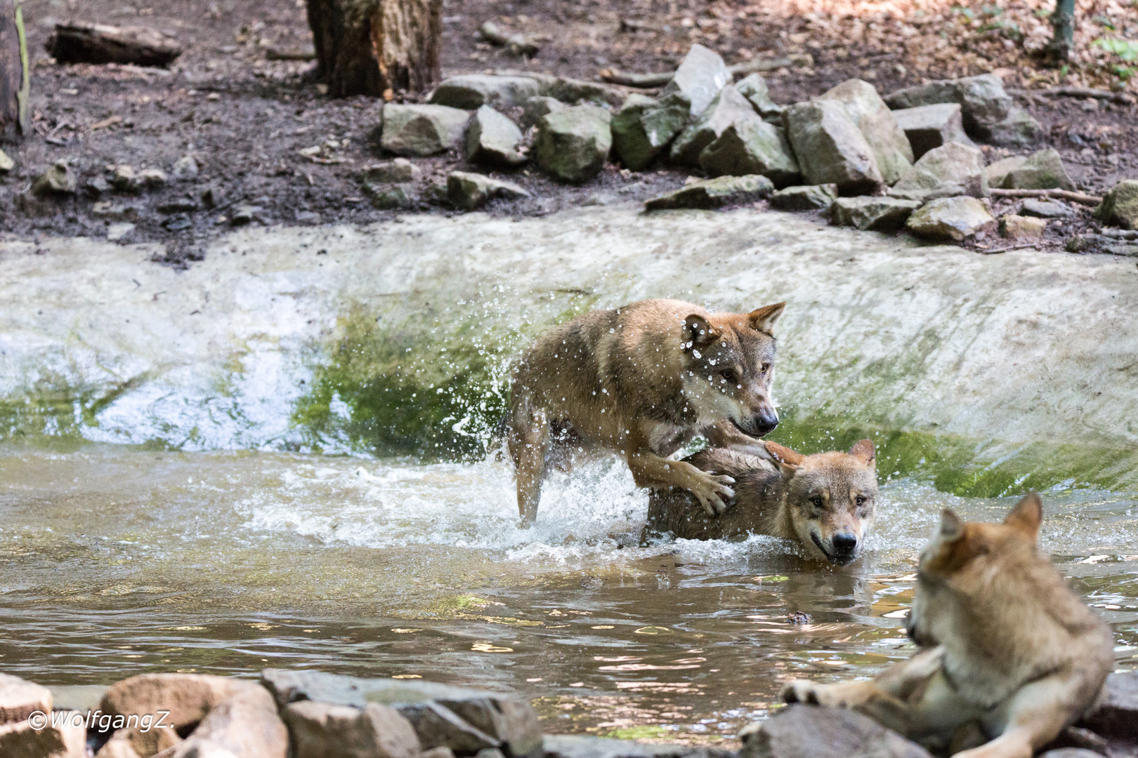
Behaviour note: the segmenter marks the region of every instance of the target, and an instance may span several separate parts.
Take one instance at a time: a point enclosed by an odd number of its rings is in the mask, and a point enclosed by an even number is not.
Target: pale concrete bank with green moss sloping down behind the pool
[[[972,465],[945,481],[962,491],[992,472],[991,493],[1138,483],[1132,259],[632,207],[250,228],[184,272],[152,252],[0,243],[0,434],[478,455],[546,325],[649,297],[786,300],[776,438],[888,431],[901,466]]]

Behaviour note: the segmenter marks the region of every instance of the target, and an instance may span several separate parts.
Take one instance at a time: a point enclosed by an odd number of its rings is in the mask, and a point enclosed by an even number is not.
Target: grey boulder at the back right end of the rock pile
[[[956,102],[960,106],[964,128],[983,142],[1022,148],[1042,136],[1042,127],[1004,91],[996,74],[942,80],[893,92],[885,98],[893,110]]]

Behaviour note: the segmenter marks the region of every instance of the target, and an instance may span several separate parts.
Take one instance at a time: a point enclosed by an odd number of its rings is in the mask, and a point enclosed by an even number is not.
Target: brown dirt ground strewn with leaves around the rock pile
[[[1047,144],[1039,147],[1057,148],[1078,186],[1099,193],[1120,178],[1138,177],[1138,106],[1030,92],[1055,85],[1136,92],[1138,76],[1128,80],[1127,61],[1096,40],[1138,45],[1138,0],[1080,2],[1075,50],[1059,69],[1030,56],[1049,35],[1048,9],[1038,0],[445,0],[443,70],[511,68],[580,78],[594,78],[603,68],[660,72],[674,68],[692,42],[718,50],[728,64],[809,52],[813,66],[766,75],[778,102],[819,94],[851,77],[888,93],[996,70],[1047,128]],[[331,100],[313,77],[313,63],[270,60],[270,51],[311,47],[303,0],[26,0],[24,14],[35,134],[3,145],[17,165],[0,175],[0,233],[157,242],[166,252],[156,259],[184,266],[231,227],[241,205],[259,208],[251,223],[266,225],[365,224],[397,215],[372,208],[357,178],[361,167],[380,158],[370,135],[382,102]],[[176,36],[185,52],[170,70],[58,65],[43,43],[57,20],[68,19],[151,26]],[[516,58],[479,40],[477,28],[488,19],[537,35],[538,56]],[[324,156],[341,163],[300,155],[321,144],[328,145]],[[1009,155],[986,150],[990,160]],[[114,166],[171,174],[187,155],[199,164],[195,178],[172,178],[137,195],[104,190],[96,197],[92,185],[108,180]],[[76,169],[81,188],[88,186],[72,200],[17,202],[31,181],[60,159]],[[462,167],[461,158],[417,163],[423,168],[412,193],[417,211],[454,213],[438,189],[448,172]],[[583,186],[558,184],[534,168],[509,178],[534,197],[494,206],[492,213],[541,215],[642,200],[679,186],[686,173],[663,165],[643,173],[609,166]],[[203,201],[207,190],[209,203]],[[113,217],[96,206],[100,201],[115,206]],[[997,203],[997,210],[1007,205]],[[1059,244],[1087,220],[1083,209],[1082,218],[1065,227],[1053,224],[1048,240]],[[986,245],[999,249],[1001,242],[980,242]]]

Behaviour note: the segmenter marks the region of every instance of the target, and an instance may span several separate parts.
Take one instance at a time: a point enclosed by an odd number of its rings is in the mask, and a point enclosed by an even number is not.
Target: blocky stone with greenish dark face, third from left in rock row
[[[554,178],[579,184],[596,176],[612,148],[612,116],[596,106],[546,114],[537,124],[534,153]]]

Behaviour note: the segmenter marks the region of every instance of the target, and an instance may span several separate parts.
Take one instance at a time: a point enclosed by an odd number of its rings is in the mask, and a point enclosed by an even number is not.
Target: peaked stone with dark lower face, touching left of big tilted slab
[[[786,133],[757,114],[739,118],[700,152],[700,167],[709,176],[760,174],[775,186],[802,178]]]

